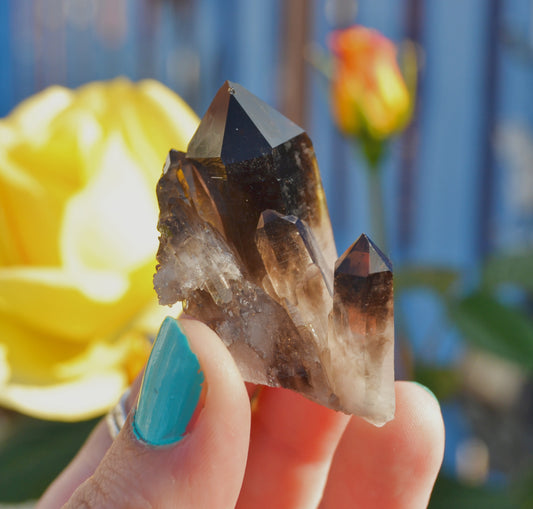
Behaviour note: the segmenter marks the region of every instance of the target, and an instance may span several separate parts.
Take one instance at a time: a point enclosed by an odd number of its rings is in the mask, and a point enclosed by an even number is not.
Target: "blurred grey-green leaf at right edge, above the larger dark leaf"
[[[488,289],[511,283],[533,292],[533,251],[489,258],[481,278],[483,286]]]

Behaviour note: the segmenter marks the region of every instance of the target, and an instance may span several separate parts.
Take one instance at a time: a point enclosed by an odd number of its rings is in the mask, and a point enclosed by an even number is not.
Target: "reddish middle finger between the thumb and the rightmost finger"
[[[292,391],[262,388],[252,405],[248,464],[237,508],[315,508],[347,422],[346,415]]]

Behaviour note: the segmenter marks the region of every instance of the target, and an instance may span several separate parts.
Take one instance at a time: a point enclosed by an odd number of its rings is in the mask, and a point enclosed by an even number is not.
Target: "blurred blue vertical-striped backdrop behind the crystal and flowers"
[[[333,126],[327,80],[310,60],[331,30],[355,22],[418,48],[415,118],[383,169],[390,257],[400,268],[454,271],[468,294],[487,259],[532,246],[531,0],[4,0],[0,115],[52,84],[124,75],[160,80],[201,116],[222,82],[236,81],[308,130],[343,251],[370,231],[366,172]],[[531,318],[522,290],[498,295]],[[527,370],[471,350],[431,289],[406,291],[397,305],[402,376],[428,367],[423,381],[436,391],[435,373],[459,378],[460,390],[442,398],[444,473],[469,486],[510,485],[533,455]],[[481,379],[501,374],[503,400],[469,380],[479,363]]]

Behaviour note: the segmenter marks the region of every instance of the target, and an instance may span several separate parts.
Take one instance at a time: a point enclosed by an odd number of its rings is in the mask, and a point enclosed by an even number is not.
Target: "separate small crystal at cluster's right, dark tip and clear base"
[[[333,392],[377,425],[394,416],[392,266],[365,235],[335,265],[328,335]]]

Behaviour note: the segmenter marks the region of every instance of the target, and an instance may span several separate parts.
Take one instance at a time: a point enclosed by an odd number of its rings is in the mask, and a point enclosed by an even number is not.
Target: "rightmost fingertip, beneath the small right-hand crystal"
[[[382,428],[353,417],[331,466],[321,509],[427,507],[444,454],[437,400],[396,382],[396,416]]]

